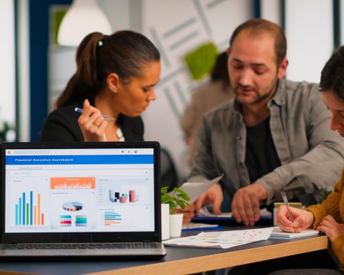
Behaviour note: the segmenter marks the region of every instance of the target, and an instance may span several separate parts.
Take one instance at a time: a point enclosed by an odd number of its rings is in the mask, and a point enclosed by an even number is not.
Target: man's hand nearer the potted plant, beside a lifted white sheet
[[[221,186],[219,184],[214,184],[195,201],[195,210],[198,212],[202,206],[213,203],[213,212],[215,214],[221,214],[220,208],[223,200],[224,196]]]

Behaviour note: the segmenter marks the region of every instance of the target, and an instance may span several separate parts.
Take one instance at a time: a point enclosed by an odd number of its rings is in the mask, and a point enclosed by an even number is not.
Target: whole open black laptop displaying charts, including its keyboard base
[[[1,144],[0,256],[164,256],[158,142]]]

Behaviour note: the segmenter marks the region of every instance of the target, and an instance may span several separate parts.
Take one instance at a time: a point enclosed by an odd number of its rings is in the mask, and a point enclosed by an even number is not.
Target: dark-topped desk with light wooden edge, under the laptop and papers
[[[154,261],[30,261],[0,262],[0,270],[34,274],[191,274],[256,263],[327,249],[327,236],[269,239],[228,250],[166,247],[167,255]],[[1,272],[0,272],[1,274]]]

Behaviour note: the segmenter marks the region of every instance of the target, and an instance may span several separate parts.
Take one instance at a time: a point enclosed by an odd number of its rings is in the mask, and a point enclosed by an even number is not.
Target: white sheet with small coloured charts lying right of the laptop
[[[233,248],[254,241],[269,239],[272,228],[257,228],[248,230],[231,230],[202,232],[196,236],[170,239],[163,241],[164,245],[190,246],[197,248]]]

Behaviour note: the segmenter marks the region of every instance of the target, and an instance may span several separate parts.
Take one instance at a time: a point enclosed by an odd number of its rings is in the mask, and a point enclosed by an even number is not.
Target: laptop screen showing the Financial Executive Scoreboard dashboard
[[[153,232],[156,228],[153,148],[11,148],[7,144],[3,154],[5,233]]]

